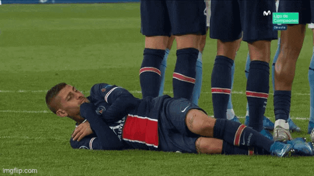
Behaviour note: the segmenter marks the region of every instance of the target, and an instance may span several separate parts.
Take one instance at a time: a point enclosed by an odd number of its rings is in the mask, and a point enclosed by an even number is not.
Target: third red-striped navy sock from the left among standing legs
[[[231,93],[232,59],[216,56],[211,73],[211,96],[215,118],[227,118],[227,107]]]

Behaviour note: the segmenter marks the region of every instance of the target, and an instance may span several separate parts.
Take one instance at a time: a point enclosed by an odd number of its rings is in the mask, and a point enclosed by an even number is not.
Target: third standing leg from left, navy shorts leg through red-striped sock
[[[217,39],[217,55],[211,72],[211,94],[214,116],[227,118],[232,86],[232,66],[241,37],[239,9],[235,1],[212,0],[210,38]],[[230,27],[233,30],[230,30]]]

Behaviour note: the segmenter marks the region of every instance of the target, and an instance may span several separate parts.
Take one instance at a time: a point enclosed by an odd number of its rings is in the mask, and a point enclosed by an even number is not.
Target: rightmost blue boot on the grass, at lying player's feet
[[[291,141],[287,141],[294,150],[294,154],[300,156],[313,156],[313,146],[306,142],[304,138],[295,138]]]

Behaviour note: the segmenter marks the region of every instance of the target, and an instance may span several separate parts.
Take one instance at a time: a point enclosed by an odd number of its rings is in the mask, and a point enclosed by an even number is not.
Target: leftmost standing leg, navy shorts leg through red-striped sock
[[[141,0],[141,32],[145,35],[144,57],[139,70],[142,96],[157,97],[161,62],[165,56],[170,22],[164,1]]]

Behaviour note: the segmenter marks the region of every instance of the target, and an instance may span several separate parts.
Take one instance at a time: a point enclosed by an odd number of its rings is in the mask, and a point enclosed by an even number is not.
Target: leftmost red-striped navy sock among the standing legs
[[[139,70],[139,80],[142,96],[157,97],[161,83],[160,65],[165,55],[165,50],[144,49],[144,59]]]

